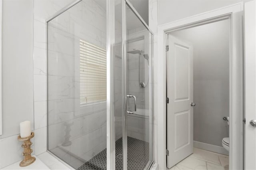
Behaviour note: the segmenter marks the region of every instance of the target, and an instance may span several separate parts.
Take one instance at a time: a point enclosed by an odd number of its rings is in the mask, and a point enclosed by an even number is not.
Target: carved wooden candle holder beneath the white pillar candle
[[[24,156],[24,159],[20,162],[20,166],[22,167],[28,166],[33,162],[35,162],[36,160],[35,157],[31,156],[31,153],[33,152],[33,150],[30,148],[30,146],[32,145],[32,142],[30,142],[30,139],[33,137],[34,137],[34,132],[31,132],[31,135],[25,138],[21,138],[20,135],[18,136],[18,140],[23,141],[23,144],[21,146],[22,148],[24,148],[24,151],[22,154]]]

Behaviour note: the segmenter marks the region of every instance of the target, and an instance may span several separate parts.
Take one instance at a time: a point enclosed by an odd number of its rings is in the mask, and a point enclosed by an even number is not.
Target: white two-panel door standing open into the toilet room
[[[193,153],[193,48],[168,34],[167,167]]]

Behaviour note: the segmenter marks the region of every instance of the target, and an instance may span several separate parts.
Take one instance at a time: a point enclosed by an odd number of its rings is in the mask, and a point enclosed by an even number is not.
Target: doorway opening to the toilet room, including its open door
[[[166,34],[167,168],[229,169],[230,28],[226,17]]]

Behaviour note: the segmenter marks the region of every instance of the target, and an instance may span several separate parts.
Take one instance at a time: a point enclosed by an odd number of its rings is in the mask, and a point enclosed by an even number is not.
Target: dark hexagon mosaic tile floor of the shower
[[[143,170],[149,161],[149,143],[136,138],[127,138],[128,170]],[[106,170],[107,150],[104,149],[77,170]],[[123,169],[122,138],[116,140],[116,170]]]

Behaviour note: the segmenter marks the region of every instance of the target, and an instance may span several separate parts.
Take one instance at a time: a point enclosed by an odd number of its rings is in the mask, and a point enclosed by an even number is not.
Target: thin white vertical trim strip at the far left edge
[[[2,0],[0,0],[0,135],[2,135]]]

